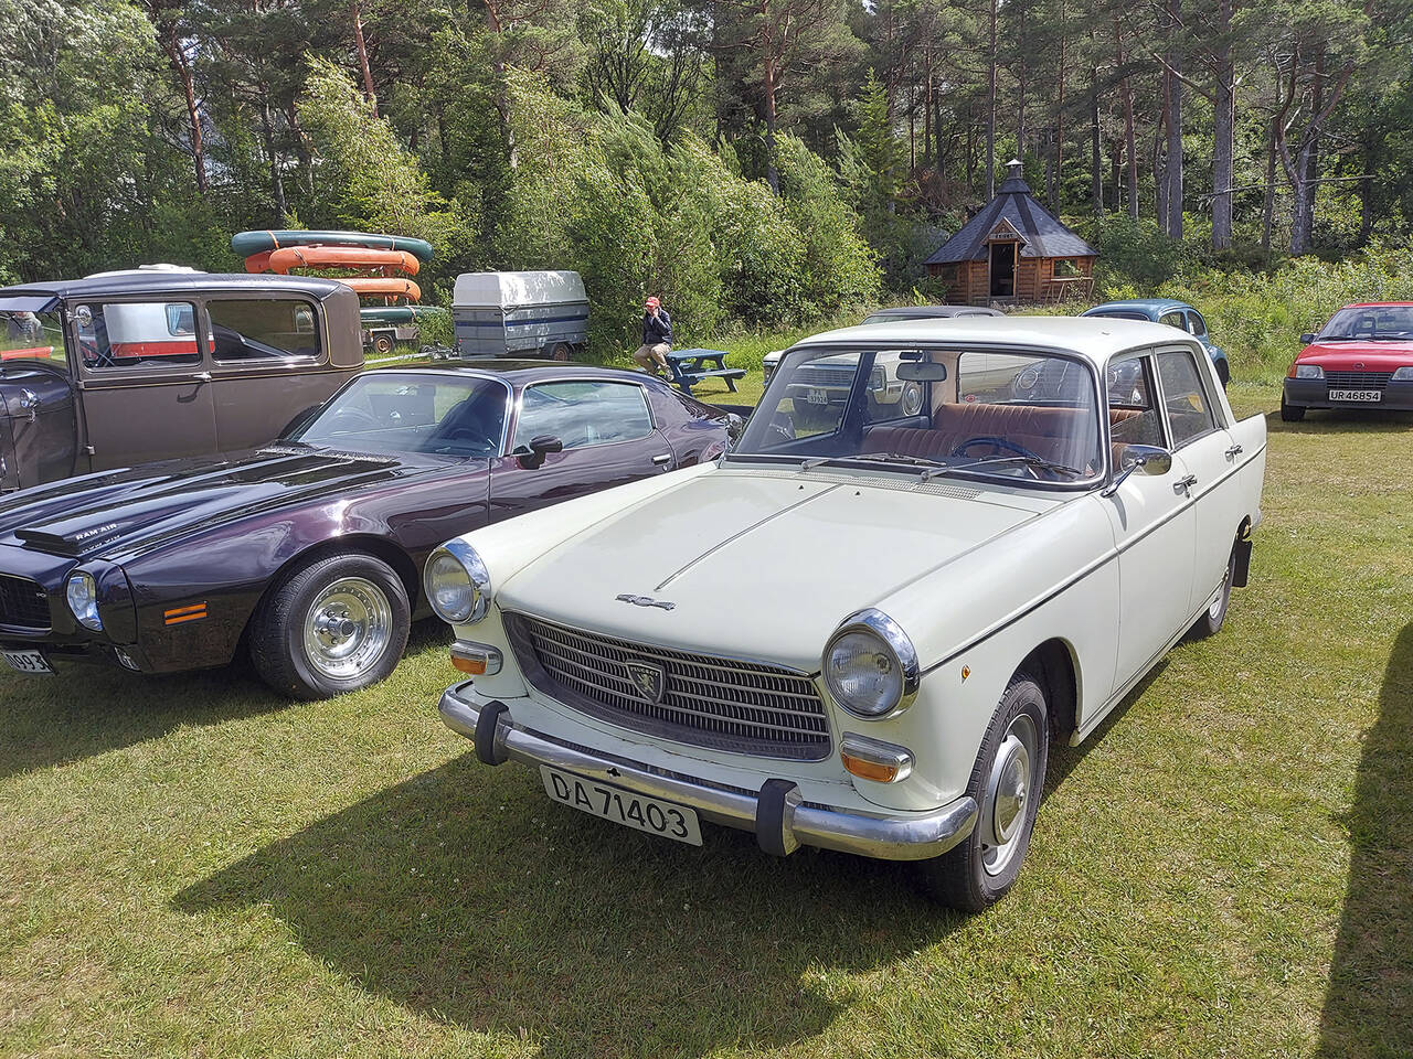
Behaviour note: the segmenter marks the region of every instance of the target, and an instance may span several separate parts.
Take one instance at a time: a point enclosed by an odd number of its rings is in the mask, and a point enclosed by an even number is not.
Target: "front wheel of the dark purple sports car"
[[[348,592],[331,596],[339,586]],[[315,616],[321,597],[328,609]],[[336,613],[341,606],[342,623]],[[319,618],[335,626],[324,630],[333,641],[326,655],[307,645],[307,631],[325,642],[314,631]],[[407,589],[391,566],[362,552],[331,555],[292,570],[266,593],[250,623],[250,661],[260,679],[277,692],[328,699],[386,679],[407,648],[410,621]],[[345,671],[332,655],[348,641],[357,642]]]

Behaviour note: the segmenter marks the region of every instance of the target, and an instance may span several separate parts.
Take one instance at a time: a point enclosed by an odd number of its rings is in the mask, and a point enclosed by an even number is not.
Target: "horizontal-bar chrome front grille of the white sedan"
[[[793,669],[633,644],[524,614],[507,614],[506,630],[526,678],[589,716],[738,754],[829,755],[824,700],[814,681]],[[663,668],[658,702],[637,690],[629,662]]]

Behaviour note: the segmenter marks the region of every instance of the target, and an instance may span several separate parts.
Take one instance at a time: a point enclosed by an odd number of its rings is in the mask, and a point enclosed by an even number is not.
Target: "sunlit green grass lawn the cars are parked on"
[[[1270,419],[1226,628],[1054,755],[969,919],[475,764],[432,624],[324,703],[0,678],[0,1053],[1413,1055],[1413,418]]]

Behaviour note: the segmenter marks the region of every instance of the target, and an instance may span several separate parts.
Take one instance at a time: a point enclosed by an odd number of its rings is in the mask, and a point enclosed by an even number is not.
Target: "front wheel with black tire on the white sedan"
[[[1026,851],[1030,849],[1030,833],[1036,826],[1036,812],[1040,808],[1040,794],[1044,789],[1046,765],[1050,757],[1050,716],[1046,693],[1040,683],[1026,672],[1017,672],[1006,685],[996,713],[986,726],[986,734],[981,741],[981,753],[976,754],[976,765],[972,768],[966,792],[976,799],[976,826],[961,843],[944,853],[941,857],[926,860],[918,864],[923,881],[928,892],[945,905],[964,912],[981,912],[1006,895],[1020,874],[1024,864]],[[1024,768],[1026,775],[1024,796],[1019,812],[1009,822],[1005,843],[996,843],[999,822],[1003,819],[996,813],[996,802],[991,794],[992,779],[998,764],[998,754],[1007,747],[1006,761],[1015,760],[1015,751],[1009,747],[1010,738],[1017,734],[1022,724],[1029,724],[1034,740],[1033,750],[1027,748],[1024,762],[1017,762],[1016,768]],[[1015,801],[1012,801],[1015,805]],[[1000,860],[1002,853],[1005,858]]]

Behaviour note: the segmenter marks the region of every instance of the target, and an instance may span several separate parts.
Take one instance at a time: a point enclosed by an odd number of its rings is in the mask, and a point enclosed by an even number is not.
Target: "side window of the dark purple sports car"
[[[602,380],[526,387],[516,424],[516,449],[531,438],[558,438],[565,449],[637,441],[653,432],[643,388]]]

